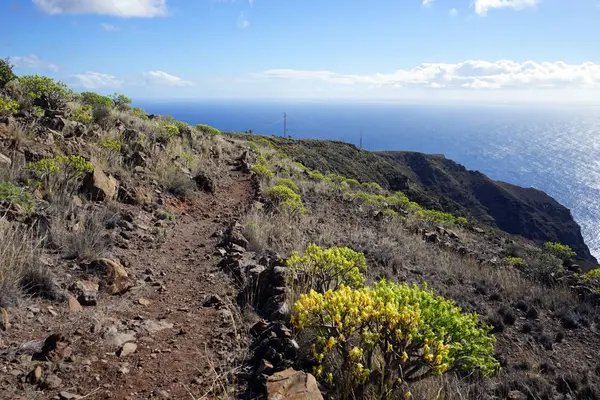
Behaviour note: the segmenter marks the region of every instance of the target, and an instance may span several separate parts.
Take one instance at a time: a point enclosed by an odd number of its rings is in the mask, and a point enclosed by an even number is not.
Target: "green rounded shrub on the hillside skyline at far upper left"
[[[42,107],[58,110],[65,107],[75,93],[60,81],[39,75],[20,76],[19,82],[28,95],[35,100],[41,100]]]

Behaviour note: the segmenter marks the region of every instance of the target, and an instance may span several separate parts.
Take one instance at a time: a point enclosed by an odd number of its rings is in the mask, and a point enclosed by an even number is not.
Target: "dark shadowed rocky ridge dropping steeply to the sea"
[[[568,244],[581,260],[595,263],[571,212],[532,188],[494,181],[439,155],[368,152],[335,141],[274,139],[311,168],[405,192],[428,208],[461,214],[538,243]]]

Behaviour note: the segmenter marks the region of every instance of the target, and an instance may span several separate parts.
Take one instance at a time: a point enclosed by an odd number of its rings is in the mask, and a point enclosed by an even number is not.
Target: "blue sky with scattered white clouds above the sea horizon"
[[[18,75],[145,99],[600,103],[600,0],[0,0]]]

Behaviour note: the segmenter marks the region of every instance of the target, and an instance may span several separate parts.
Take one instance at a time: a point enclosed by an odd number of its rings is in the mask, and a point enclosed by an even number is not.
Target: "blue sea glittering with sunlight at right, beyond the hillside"
[[[222,131],[342,140],[368,150],[443,153],[565,205],[600,257],[600,107],[267,101],[147,102],[150,113]]]

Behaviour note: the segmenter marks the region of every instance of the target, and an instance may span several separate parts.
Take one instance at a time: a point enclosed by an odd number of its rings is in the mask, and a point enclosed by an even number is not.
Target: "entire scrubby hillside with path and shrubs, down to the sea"
[[[4,78],[0,399],[600,398],[600,268],[542,192]]]

